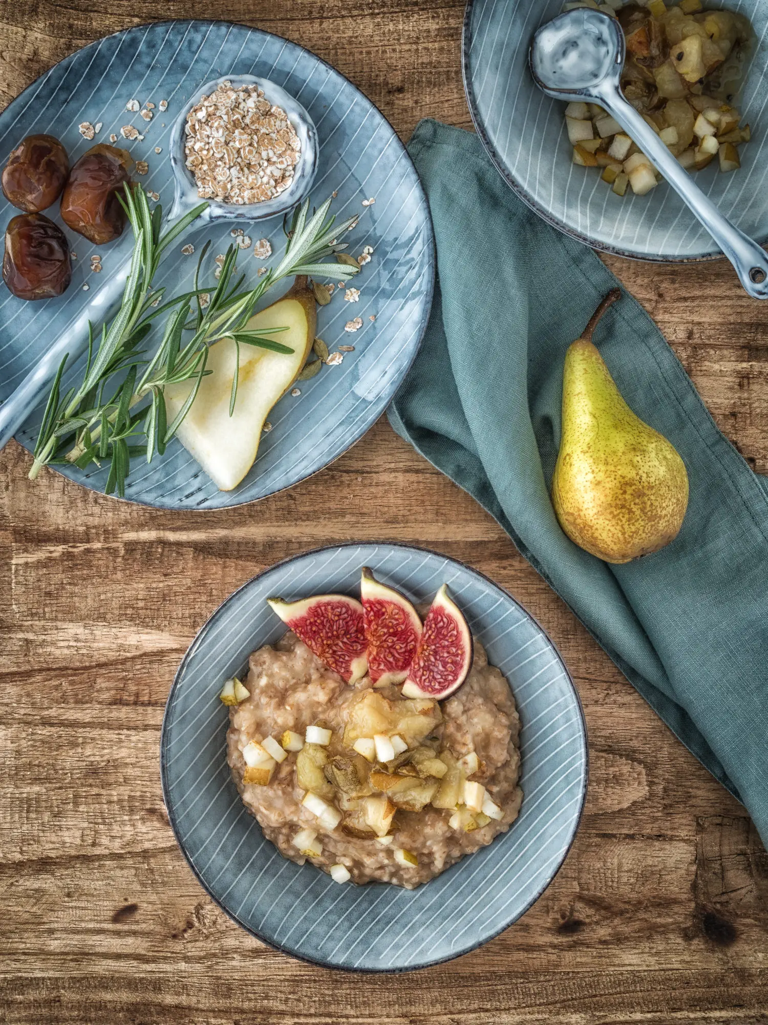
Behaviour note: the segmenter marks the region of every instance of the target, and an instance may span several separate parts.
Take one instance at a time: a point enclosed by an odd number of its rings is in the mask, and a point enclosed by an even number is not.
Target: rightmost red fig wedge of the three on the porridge
[[[446,698],[472,667],[472,633],[443,584],[424,620],[421,642],[402,685],[406,697]]]

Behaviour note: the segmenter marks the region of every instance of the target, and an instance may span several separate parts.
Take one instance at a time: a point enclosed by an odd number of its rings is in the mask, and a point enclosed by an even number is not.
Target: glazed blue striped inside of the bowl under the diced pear
[[[756,42],[739,110],[753,139],[739,148],[741,169],[717,161],[695,181],[722,212],[760,243],[768,240],[768,4],[705,0],[752,22]],[[709,233],[666,182],[646,196],[616,196],[595,168],[571,160],[563,111],[535,85],[528,46],[562,0],[470,0],[464,19],[464,84],[475,127],[499,170],[537,213],[592,246],[649,260],[721,256]]]

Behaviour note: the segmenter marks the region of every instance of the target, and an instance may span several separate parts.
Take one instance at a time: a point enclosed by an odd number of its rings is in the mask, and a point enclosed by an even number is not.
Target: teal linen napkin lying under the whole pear
[[[409,151],[438,286],[392,426],[495,517],[767,843],[768,491],[625,293],[595,342],[683,457],[688,512],[672,544],[625,566],[574,545],[549,499],[563,359],[616,279],[523,205],[477,136],[422,121]]]

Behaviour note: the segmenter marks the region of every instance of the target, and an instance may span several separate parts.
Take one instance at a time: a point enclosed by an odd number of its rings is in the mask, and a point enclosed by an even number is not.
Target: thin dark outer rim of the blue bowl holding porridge
[[[456,953],[450,953],[447,956],[444,956],[444,957],[435,957],[435,958],[432,958],[430,960],[424,960],[424,961],[419,962],[418,965],[404,965],[404,966],[398,966],[396,968],[372,968],[372,967],[352,968],[352,967],[347,966],[347,965],[339,965],[339,963],[335,963],[333,961],[324,960],[321,957],[309,957],[306,954],[297,953],[295,950],[292,950],[289,947],[284,946],[283,944],[274,943],[271,940],[267,940],[264,936],[262,936],[260,933],[256,932],[256,930],[252,929],[247,922],[245,922],[242,918],[240,918],[233,911],[230,911],[228,908],[224,907],[224,905],[221,903],[221,901],[218,899],[218,897],[211,891],[211,889],[209,888],[208,884],[203,878],[203,876],[201,875],[201,873],[198,871],[197,867],[193,863],[193,861],[191,861],[189,855],[187,854],[186,849],[185,849],[185,847],[184,847],[184,845],[183,845],[183,843],[182,843],[182,840],[180,838],[180,830],[178,828],[178,823],[177,823],[176,818],[175,818],[175,813],[174,813],[172,802],[171,802],[171,798],[170,798],[169,789],[168,789],[168,782],[167,782],[167,750],[168,750],[168,731],[170,729],[170,727],[169,727],[169,712],[170,712],[170,708],[171,708],[171,703],[172,703],[173,697],[174,697],[174,695],[176,693],[177,687],[180,686],[181,676],[183,674],[183,671],[184,671],[184,669],[186,667],[186,664],[187,664],[188,660],[195,654],[198,645],[201,643],[201,639],[202,639],[204,632],[206,630],[208,630],[208,628],[211,626],[211,624],[213,623],[214,619],[217,618],[217,616],[219,615],[219,613],[221,612],[221,610],[233,598],[236,598],[236,596],[240,594],[241,591],[245,590],[246,587],[250,587],[257,580],[261,579],[261,577],[266,576],[267,573],[271,573],[273,570],[280,569],[281,567],[288,566],[290,563],[295,562],[297,559],[304,559],[307,556],[316,555],[316,554],[319,554],[322,551],[340,550],[340,549],[343,549],[343,548],[355,548],[355,547],[359,547],[360,545],[380,545],[381,547],[388,547],[388,548],[403,548],[403,549],[409,549],[409,550],[412,550],[412,551],[423,552],[424,555],[435,556],[438,559],[446,559],[450,562],[455,563],[457,566],[461,567],[463,570],[467,571],[468,573],[474,574],[475,576],[479,577],[480,580],[482,580],[482,582],[485,583],[488,587],[490,587],[490,588],[499,591],[503,596],[503,598],[505,598],[508,601],[510,601],[541,631],[541,633],[544,636],[544,638],[546,638],[547,642],[552,646],[552,650],[557,655],[557,658],[559,659],[560,664],[562,665],[563,671],[565,673],[565,679],[566,679],[566,681],[567,681],[567,683],[568,683],[568,685],[570,687],[570,690],[571,690],[571,692],[573,694],[573,697],[575,699],[575,709],[577,709],[577,711],[579,713],[579,723],[581,724],[581,734],[582,734],[582,737],[584,739],[584,782],[583,782],[583,785],[582,785],[581,792],[579,794],[579,808],[578,808],[578,811],[577,811],[577,813],[574,815],[574,818],[573,818],[572,832],[571,832],[571,834],[570,834],[570,836],[568,838],[567,844],[565,845],[565,847],[563,849],[562,857],[559,859],[559,861],[557,862],[557,864],[548,873],[549,877],[547,878],[547,880],[545,883],[543,883],[543,885],[537,890],[536,894],[525,904],[525,906],[521,909],[521,911],[519,912],[519,914],[515,915],[514,918],[510,919],[501,929],[497,930],[496,932],[489,933],[487,936],[484,936],[482,939],[478,940],[476,943],[473,943],[471,946],[468,946],[468,947],[466,947],[463,950],[459,950]],[[505,676],[505,680],[507,680],[506,676]],[[507,686],[510,687],[508,680],[507,680]],[[511,687],[510,687],[510,690],[512,690]],[[537,901],[546,893],[546,891],[552,885],[552,883],[555,879],[555,876],[558,874],[558,872],[562,868],[563,864],[565,863],[565,859],[568,857],[568,855],[569,855],[569,853],[571,851],[571,848],[573,847],[575,838],[577,838],[577,836],[579,834],[579,829],[580,829],[581,824],[582,824],[582,818],[584,816],[584,809],[585,809],[585,804],[586,804],[586,798],[587,798],[587,792],[588,792],[588,789],[589,789],[589,778],[590,778],[589,732],[588,732],[588,728],[587,728],[587,720],[586,720],[586,716],[584,714],[584,706],[582,704],[581,695],[579,694],[579,690],[578,690],[575,684],[573,683],[573,678],[570,674],[570,670],[568,669],[568,666],[567,666],[565,660],[563,659],[563,657],[562,657],[562,655],[560,653],[560,650],[558,649],[557,645],[554,643],[554,641],[552,640],[552,638],[549,636],[549,633],[547,632],[547,630],[542,626],[542,624],[536,618],[536,616],[534,616],[530,612],[528,612],[528,610],[523,605],[521,605],[517,601],[517,599],[514,598],[514,596],[510,594],[510,592],[506,589],[506,587],[503,587],[501,584],[497,583],[495,580],[493,580],[485,573],[483,573],[480,570],[475,569],[473,566],[469,566],[467,563],[463,562],[460,559],[455,559],[453,556],[447,556],[447,555],[444,555],[444,554],[442,554],[440,551],[435,551],[433,548],[428,548],[428,547],[425,547],[424,545],[421,545],[421,544],[409,544],[409,543],[407,543],[404,541],[376,540],[375,538],[374,539],[364,539],[364,540],[358,540],[358,541],[344,541],[341,544],[323,544],[323,545],[319,545],[319,546],[317,546],[315,548],[307,548],[304,551],[299,551],[299,552],[297,552],[297,554],[295,554],[293,556],[287,556],[285,559],[281,559],[278,562],[272,563],[271,565],[269,565],[269,566],[265,567],[263,570],[261,570],[259,573],[256,573],[254,576],[252,576],[248,580],[244,581],[230,594],[228,594],[222,602],[220,602],[219,605],[208,616],[208,618],[206,619],[206,621],[203,623],[203,625],[200,627],[200,629],[197,631],[197,633],[193,638],[193,641],[190,642],[189,647],[186,649],[186,651],[185,651],[185,653],[183,655],[183,658],[179,662],[178,668],[176,669],[176,672],[174,673],[173,682],[171,683],[170,689],[168,691],[168,697],[166,698],[165,708],[163,710],[163,721],[162,721],[162,725],[161,725],[161,728],[160,728],[160,752],[159,753],[160,753],[160,765],[159,765],[159,768],[160,768],[160,783],[161,783],[161,790],[162,790],[162,794],[163,794],[163,805],[164,805],[166,813],[168,815],[168,822],[169,822],[169,825],[171,827],[171,831],[173,832],[174,839],[176,840],[176,846],[179,849],[179,851],[181,852],[181,854],[183,855],[183,858],[186,861],[186,864],[191,869],[193,875],[198,880],[198,883],[203,888],[203,890],[208,894],[208,896],[211,898],[211,900],[214,902],[214,904],[221,911],[223,911],[224,914],[228,918],[230,918],[236,925],[240,926],[241,929],[244,929],[246,931],[246,933],[249,934],[249,936],[254,937],[260,943],[263,943],[266,947],[268,947],[270,950],[278,950],[281,953],[284,953],[284,954],[286,954],[289,957],[295,957],[297,960],[303,961],[303,962],[305,962],[307,965],[316,965],[316,966],[319,966],[321,968],[324,968],[324,969],[331,969],[331,970],[334,970],[334,971],[348,972],[348,973],[360,974],[360,975],[400,975],[400,974],[406,973],[406,972],[418,972],[418,971],[421,971],[422,969],[432,968],[435,965],[445,965],[449,961],[456,960],[457,957],[463,957],[466,954],[470,954],[473,951],[479,949],[480,947],[484,946],[486,943],[489,943],[492,940],[496,939],[498,936],[501,936],[502,933],[506,932],[508,929],[510,929],[512,926],[514,926],[515,922],[519,921],[520,918],[530,910],[530,908],[534,906],[534,904],[537,903]],[[523,796],[523,799],[524,799],[524,796]],[[255,816],[254,816],[254,818],[255,818]],[[256,820],[256,822],[258,824],[258,819]],[[513,823],[513,825],[514,825],[514,823]],[[492,844],[494,842],[492,840]],[[488,846],[490,846],[490,845],[488,845]]]

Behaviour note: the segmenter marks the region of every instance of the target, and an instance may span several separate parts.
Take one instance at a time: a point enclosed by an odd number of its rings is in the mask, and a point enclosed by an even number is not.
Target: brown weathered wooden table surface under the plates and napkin
[[[0,105],[92,39],[210,16],[313,50],[408,138],[471,127],[462,0],[14,0]],[[768,471],[768,309],[724,262],[608,259],[728,438]],[[0,326],[0,331],[2,330]],[[156,512],[0,454],[0,1021],[269,1025],[768,1022],[768,858],[744,809],[655,717],[508,537],[384,418],[256,506]],[[174,670],[249,577],[391,538],[486,573],[550,632],[590,736],[587,807],[555,881],[498,939],[400,976],[275,953],[206,896],[168,826],[158,741]]]

